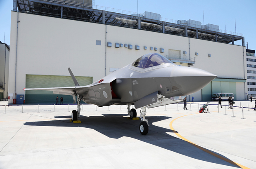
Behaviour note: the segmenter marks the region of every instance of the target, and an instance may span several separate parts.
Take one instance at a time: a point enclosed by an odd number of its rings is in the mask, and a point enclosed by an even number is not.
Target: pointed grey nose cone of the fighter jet
[[[189,95],[204,88],[217,76],[198,68],[176,66],[171,77],[174,81],[172,85],[176,84],[181,93]]]

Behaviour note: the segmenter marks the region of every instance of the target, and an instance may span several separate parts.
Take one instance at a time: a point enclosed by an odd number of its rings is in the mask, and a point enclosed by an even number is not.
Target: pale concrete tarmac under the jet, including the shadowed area
[[[256,169],[254,102],[198,103],[147,109],[146,136],[126,106],[83,105],[76,124],[76,105],[0,106],[0,169]]]

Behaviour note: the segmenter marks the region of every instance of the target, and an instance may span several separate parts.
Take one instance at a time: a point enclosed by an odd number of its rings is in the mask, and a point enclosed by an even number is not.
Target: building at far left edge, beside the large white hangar
[[[0,41],[0,100],[7,99],[10,47]]]

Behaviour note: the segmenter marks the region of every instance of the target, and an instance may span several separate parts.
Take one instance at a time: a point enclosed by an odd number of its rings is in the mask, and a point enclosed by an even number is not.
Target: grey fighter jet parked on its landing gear
[[[134,108],[140,110],[140,133],[148,133],[145,119],[147,108],[183,101],[185,96],[197,92],[211,82],[216,75],[198,68],[176,65],[157,53],[149,53],[127,66],[112,72],[101,80],[87,86],[80,86],[71,72],[74,87],[37,88],[24,90],[47,90],[53,94],[72,95],[77,110],[71,113],[73,121],[78,120],[81,101],[99,107],[127,105],[128,115],[137,117]],[[77,99],[76,99],[77,98]]]

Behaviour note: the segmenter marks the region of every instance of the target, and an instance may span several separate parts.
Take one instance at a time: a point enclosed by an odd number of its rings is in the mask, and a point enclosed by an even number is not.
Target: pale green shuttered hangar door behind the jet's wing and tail
[[[76,76],[80,86],[90,85],[92,77]],[[52,76],[52,75],[26,75],[26,88],[45,88],[45,87],[71,87],[75,86],[71,76]],[[32,90],[26,91],[26,103],[49,103],[56,104],[56,98],[63,97],[63,104],[72,104],[73,97],[69,95],[53,94],[52,91]]]

